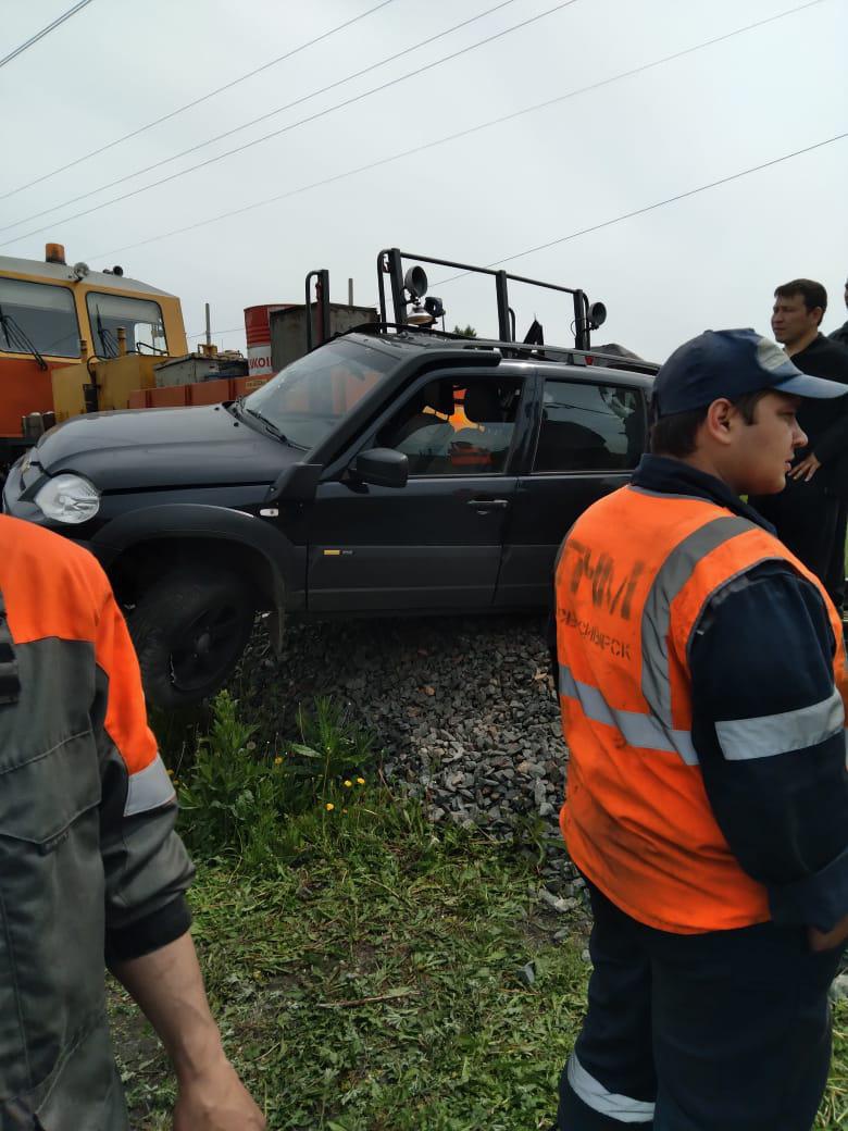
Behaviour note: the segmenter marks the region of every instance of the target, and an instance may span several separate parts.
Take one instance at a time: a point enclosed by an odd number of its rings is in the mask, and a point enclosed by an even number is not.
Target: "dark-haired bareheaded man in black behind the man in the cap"
[[[848,387],[848,348],[819,329],[827,309],[828,294],[821,283],[793,279],[775,292],[771,328],[799,370]],[[821,578],[841,610],[848,517],[848,389],[845,397],[827,406],[824,402],[804,402],[798,423],[810,442],[798,452],[785,490],[751,502],[773,524],[784,545]]]

